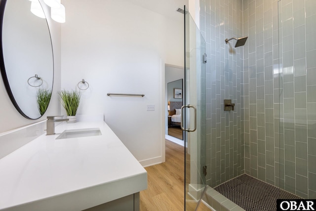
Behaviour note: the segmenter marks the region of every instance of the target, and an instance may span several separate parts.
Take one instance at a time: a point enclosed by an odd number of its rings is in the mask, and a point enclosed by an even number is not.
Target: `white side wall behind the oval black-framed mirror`
[[[42,2],[42,0],[40,0]],[[38,120],[28,120],[20,115],[20,113],[13,106],[9,96],[7,95],[2,79],[0,80],[0,133],[12,130],[18,127],[27,126],[35,122],[44,120],[46,116],[58,115],[60,113],[60,103],[57,98],[57,90],[60,89],[60,24],[52,21],[50,11],[44,5],[45,13],[48,14],[48,25],[53,43],[54,51],[54,87],[51,102],[48,106],[44,117]],[[4,32],[2,32],[4,33]],[[0,146],[1,147],[1,146]]]

